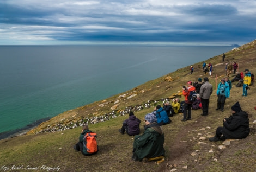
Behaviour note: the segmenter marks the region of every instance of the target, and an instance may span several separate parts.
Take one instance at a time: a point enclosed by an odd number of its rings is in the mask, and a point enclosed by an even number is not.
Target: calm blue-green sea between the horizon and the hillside
[[[0,138],[233,48],[0,46]]]

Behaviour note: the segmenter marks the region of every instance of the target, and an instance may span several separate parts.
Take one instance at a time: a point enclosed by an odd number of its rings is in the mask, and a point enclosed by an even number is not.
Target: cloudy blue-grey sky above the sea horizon
[[[255,0],[1,0],[0,45],[246,44]]]

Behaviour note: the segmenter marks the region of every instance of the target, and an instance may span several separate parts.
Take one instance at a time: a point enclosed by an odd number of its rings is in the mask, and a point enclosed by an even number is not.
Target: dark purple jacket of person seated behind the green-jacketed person
[[[140,132],[140,129],[139,129],[140,123],[141,123],[141,120],[136,118],[135,115],[129,116],[129,118],[126,119],[124,123],[124,125],[126,125],[128,128],[128,132],[129,132],[128,135],[130,136],[138,135]]]

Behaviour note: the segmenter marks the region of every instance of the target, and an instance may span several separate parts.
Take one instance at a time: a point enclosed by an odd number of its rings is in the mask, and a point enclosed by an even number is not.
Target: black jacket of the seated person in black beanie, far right
[[[232,114],[223,122],[223,135],[227,138],[246,138],[250,133],[248,113],[240,111]]]

